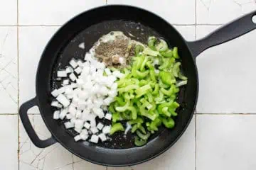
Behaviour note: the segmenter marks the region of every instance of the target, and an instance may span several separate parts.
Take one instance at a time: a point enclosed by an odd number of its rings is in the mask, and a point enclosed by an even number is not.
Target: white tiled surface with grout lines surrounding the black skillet
[[[255,0],[0,0],[0,169],[255,170],[256,30],[198,56],[196,115],[181,139],[160,157],[111,168],[85,162],[58,144],[38,149],[31,143],[18,120],[18,107],[36,95],[43,48],[65,21],[106,4],[158,13],[186,40],[203,38],[256,9]],[[38,109],[29,114],[39,136],[49,137]]]

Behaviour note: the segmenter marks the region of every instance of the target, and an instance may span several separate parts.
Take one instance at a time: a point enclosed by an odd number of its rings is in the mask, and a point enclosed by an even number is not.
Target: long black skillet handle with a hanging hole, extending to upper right
[[[256,23],[252,22],[253,16],[256,17],[256,11],[248,13],[235,21],[231,21],[201,40],[188,42],[188,47],[191,50],[193,57],[196,58],[201,52],[209,47],[233,40],[254,30],[256,28]]]

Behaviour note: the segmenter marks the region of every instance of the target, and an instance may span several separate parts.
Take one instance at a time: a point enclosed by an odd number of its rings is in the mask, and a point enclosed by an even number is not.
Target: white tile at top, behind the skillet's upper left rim
[[[18,22],[19,25],[61,25],[83,11],[105,4],[105,0],[19,0]]]

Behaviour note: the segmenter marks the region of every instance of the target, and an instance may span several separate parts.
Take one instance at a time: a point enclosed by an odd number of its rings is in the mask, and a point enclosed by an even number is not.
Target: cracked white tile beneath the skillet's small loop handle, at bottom
[[[50,137],[50,132],[43,123],[41,115],[28,115],[33,127],[41,140]],[[55,144],[44,149],[40,149],[33,145],[26,131],[20,123],[20,170],[80,170],[93,169],[105,170],[105,166],[98,166],[85,162],[68,152],[67,149],[60,144]],[[74,168],[73,168],[74,167]]]

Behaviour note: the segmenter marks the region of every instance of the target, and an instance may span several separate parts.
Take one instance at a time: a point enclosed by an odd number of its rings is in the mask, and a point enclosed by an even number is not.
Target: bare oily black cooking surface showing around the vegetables
[[[56,81],[56,72],[60,69],[65,69],[65,66],[68,65],[68,62],[72,59],[80,59],[83,60],[85,57],[85,52],[88,52],[90,48],[94,45],[97,40],[102,37],[102,35],[105,35],[107,33],[110,33],[111,31],[119,30],[122,31],[125,35],[127,35],[129,38],[132,38],[133,40],[138,40],[139,42],[142,42],[144,44],[147,43],[147,39],[149,36],[156,36],[156,38],[162,38],[159,33],[156,33],[155,30],[144,26],[142,23],[134,23],[132,21],[105,21],[102,23],[97,23],[93,26],[90,26],[89,28],[86,28],[85,30],[82,30],[78,35],[76,35],[68,45],[64,47],[62,52],[60,53],[58,60],[55,62],[55,67],[53,67],[53,74],[51,76],[50,86],[51,90],[56,89],[61,86],[61,81]],[[82,42],[85,42],[85,49],[80,49],[78,45]],[[171,46],[171,45],[169,45]],[[181,94],[183,94],[184,88],[181,88],[180,92],[180,98],[178,98],[178,101],[182,101]],[[181,103],[181,102],[180,102]],[[182,109],[182,104],[181,108]],[[101,120],[102,121],[102,120]],[[104,123],[111,124],[110,120],[104,120]],[[65,120],[58,120],[56,123],[58,123],[59,126],[63,126],[61,129],[65,129],[63,123]],[[126,126],[123,123],[124,127]],[[163,130],[166,130],[165,128],[161,127],[159,128],[159,131],[156,132],[156,134],[151,135],[150,140],[157,137]],[[69,135],[75,136],[77,133],[75,130],[65,130],[68,132]],[[124,137],[124,132],[116,132],[114,135],[111,136],[111,139],[107,142],[99,142],[97,144],[98,147],[106,147],[106,148],[112,148],[112,149],[127,149],[134,146],[134,135],[129,131]],[[90,142],[83,142],[85,145],[95,145]]]

